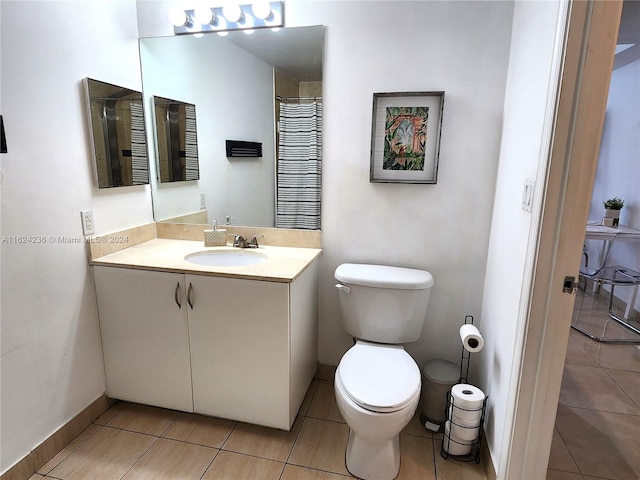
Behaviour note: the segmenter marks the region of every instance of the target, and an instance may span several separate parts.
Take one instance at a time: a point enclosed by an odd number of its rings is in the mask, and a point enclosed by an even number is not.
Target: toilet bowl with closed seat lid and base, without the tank
[[[357,341],[335,375],[338,409],[349,425],[346,464],[362,479],[390,480],[400,469],[400,432],[420,400],[420,369],[401,346]]]

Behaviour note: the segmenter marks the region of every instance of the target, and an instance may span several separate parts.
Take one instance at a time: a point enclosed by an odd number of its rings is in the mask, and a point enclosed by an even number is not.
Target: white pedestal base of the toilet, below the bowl
[[[349,430],[347,470],[363,480],[393,480],[400,471],[400,435],[371,441]]]

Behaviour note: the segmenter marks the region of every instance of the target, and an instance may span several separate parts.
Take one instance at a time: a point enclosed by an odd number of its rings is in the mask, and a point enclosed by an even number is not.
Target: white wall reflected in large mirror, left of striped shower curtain
[[[152,160],[156,218],[198,211],[204,192],[210,221],[231,215],[239,225],[273,227],[273,68],[218,35],[146,38],[140,55],[147,111],[152,95],[196,105],[200,180],[158,184]],[[153,128],[148,115],[155,159]],[[260,142],[263,156],[228,159],[226,139]]]

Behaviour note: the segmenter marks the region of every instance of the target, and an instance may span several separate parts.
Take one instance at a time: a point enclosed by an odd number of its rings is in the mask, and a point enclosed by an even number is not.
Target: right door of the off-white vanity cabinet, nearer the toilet
[[[288,430],[289,284],[186,275],[196,413]]]

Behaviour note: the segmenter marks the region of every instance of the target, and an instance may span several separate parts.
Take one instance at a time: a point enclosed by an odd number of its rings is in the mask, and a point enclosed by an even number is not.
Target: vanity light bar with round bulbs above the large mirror
[[[257,1],[253,4],[225,4],[224,7],[198,7],[169,12],[176,35],[253,30],[284,26],[284,2]]]

